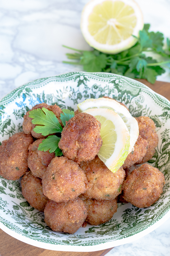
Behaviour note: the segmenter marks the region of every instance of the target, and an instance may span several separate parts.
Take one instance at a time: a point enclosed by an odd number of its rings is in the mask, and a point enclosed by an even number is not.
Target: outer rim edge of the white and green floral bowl
[[[170,102],[167,98],[165,98],[164,96],[154,92],[152,89],[150,89],[148,86],[146,86],[145,84],[143,84],[142,82],[139,82],[138,80],[134,80],[134,79],[131,79],[131,78],[128,78],[128,77],[124,77],[122,75],[116,75],[116,74],[111,74],[111,73],[103,73],[103,72],[93,72],[93,73],[89,73],[89,72],[84,72],[84,71],[78,71],[78,72],[66,72],[66,73],[61,73],[59,75],[56,75],[56,76],[52,76],[52,77],[45,77],[45,78],[42,78],[42,79],[52,79],[52,78],[58,78],[58,77],[61,77],[62,75],[73,75],[73,74],[78,74],[78,75],[100,75],[100,74],[105,74],[105,75],[108,75],[110,78],[116,76],[116,77],[119,77],[120,78],[123,78],[125,79],[127,82],[135,82],[136,85],[138,85],[138,87],[142,87],[142,88],[145,88],[146,90],[150,91],[156,98],[157,100],[160,100],[162,103],[164,104],[168,104],[170,106]],[[109,77],[106,77],[106,78],[109,78]],[[65,77],[64,77],[65,78]],[[101,77],[101,79],[104,79],[104,77]],[[35,82],[35,81],[38,81],[40,79],[36,79],[36,80],[32,80],[31,82]],[[10,100],[10,94],[12,92],[16,92],[18,89],[23,89],[24,86],[29,86],[29,84],[31,84],[31,82],[28,82],[22,86],[18,86],[17,88],[15,88],[14,90],[12,90],[11,92],[9,92],[8,94],[6,94],[1,100],[0,100],[0,103],[3,102],[4,100]],[[42,81],[43,82],[43,81]],[[12,97],[12,96],[11,96]],[[6,98],[6,99],[5,99]],[[17,232],[13,231],[13,230],[10,230],[10,228],[4,226],[4,224],[1,223],[0,221],[0,228],[5,231],[7,234],[9,234],[10,236],[20,240],[20,241],[23,241],[25,243],[28,243],[30,245],[33,245],[33,246],[37,246],[37,247],[40,247],[40,248],[44,248],[44,249],[52,249],[52,250],[56,250],[56,251],[98,251],[98,250],[103,250],[103,249],[108,249],[108,248],[111,248],[111,247],[114,247],[114,246],[118,246],[118,245],[122,245],[122,244],[125,244],[125,243],[129,243],[131,241],[135,241],[143,236],[145,236],[146,234],[149,234],[150,232],[152,232],[153,230],[155,230],[158,226],[162,225],[163,222],[165,222],[168,218],[170,217],[170,210],[167,212],[167,213],[164,213],[164,215],[162,216],[162,218],[158,221],[156,221],[154,224],[151,224],[151,226],[147,227],[146,230],[143,230],[143,231],[140,231],[139,233],[137,234],[134,234],[132,236],[129,236],[127,238],[122,238],[122,239],[118,239],[118,240],[115,240],[115,241],[104,241],[103,243],[100,243],[100,244],[97,244],[97,245],[86,245],[86,246],[80,246],[80,245],[53,245],[51,243],[43,243],[43,242],[39,242],[39,241],[36,241],[36,240],[33,240],[33,239],[30,239],[30,238],[27,238],[21,234],[18,234]],[[50,247],[50,248],[49,248]],[[56,248],[57,247],[57,248]],[[84,250],[85,249],[85,250]]]

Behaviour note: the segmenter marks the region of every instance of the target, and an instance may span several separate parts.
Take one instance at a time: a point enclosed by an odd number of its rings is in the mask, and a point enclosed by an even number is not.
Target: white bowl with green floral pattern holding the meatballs
[[[109,96],[126,104],[135,117],[145,115],[156,124],[159,144],[149,164],[165,175],[163,193],[148,208],[118,204],[113,218],[99,226],[87,225],[75,234],[54,232],[39,212],[25,201],[20,180],[0,176],[0,228],[34,246],[58,251],[97,251],[141,238],[170,216],[170,102],[144,84],[109,73],[71,72],[29,82],[0,101],[0,143],[22,131],[24,114],[45,102],[76,110],[87,98]]]

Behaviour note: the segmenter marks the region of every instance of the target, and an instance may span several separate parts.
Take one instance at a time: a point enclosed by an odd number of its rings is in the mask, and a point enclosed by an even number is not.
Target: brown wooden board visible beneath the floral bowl
[[[155,92],[170,100],[170,83],[156,81],[150,84],[146,80],[139,80]],[[63,252],[41,249],[21,242],[0,229],[0,256],[104,256],[112,248],[95,252]]]

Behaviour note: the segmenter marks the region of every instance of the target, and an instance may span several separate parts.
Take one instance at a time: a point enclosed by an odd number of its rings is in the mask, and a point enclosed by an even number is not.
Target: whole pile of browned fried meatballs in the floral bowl
[[[45,103],[61,126],[62,110]],[[100,122],[87,113],[75,112],[61,133],[63,156],[38,150],[47,137],[33,131],[29,111],[24,115],[23,132],[12,135],[0,146],[0,175],[9,180],[21,176],[22,194],[29,204],[44,211],[46,224],[54,231],[75,233],[86,223],[109,221],[118,203],[149,207],[163,192],[163,174],[147,162],[158,145],[155,124],[149,117],[136,120],[139,137],[123,166],[112,173],[97,156],[102,139]],[[142,164],[141,166],[137,166]]]

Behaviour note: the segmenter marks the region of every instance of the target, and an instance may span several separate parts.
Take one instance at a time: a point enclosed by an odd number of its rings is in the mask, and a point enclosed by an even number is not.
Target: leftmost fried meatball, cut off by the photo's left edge
[[[28,147],[33,143],[31,135],[24,132],[12,135],[0,146],[0,175],[5,179],[19,179],[28,169]]]

